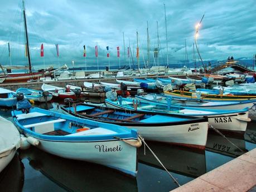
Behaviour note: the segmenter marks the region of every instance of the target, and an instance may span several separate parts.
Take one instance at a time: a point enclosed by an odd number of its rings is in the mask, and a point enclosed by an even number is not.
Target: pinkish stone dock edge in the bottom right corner
[[[172,192],[255,191],[256,149],[249,151]]]

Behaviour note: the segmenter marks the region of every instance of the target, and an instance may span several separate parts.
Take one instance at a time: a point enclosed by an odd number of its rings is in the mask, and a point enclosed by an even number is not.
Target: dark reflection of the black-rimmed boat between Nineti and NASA
[[[205,151],[188,147],[172,146],[159,142],[147,142],[168,171],[197,178],[206,173]],[[163,169],[152,153],[144,147],[139,148],[139,162]]]

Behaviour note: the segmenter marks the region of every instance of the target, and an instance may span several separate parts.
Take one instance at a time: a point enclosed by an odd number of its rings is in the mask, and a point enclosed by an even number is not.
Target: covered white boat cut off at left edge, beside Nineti
[[[0,116],[0,172],[9,164],[21,146],[20,132],[11,121]]]

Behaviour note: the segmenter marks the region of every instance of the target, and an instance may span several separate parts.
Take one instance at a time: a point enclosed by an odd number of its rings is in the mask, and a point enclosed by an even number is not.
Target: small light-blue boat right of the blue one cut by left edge
[[[16,92],[22,92],[28,100],[33,100],[36,102],[48,102],[52,99],[52,95],[48,91],[38,91],[30,88],[18,88]]]

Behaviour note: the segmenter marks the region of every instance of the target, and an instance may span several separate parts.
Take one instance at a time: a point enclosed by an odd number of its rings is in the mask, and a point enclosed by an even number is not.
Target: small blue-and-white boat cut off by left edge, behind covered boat
[[[17,104],[16,92],[0,87],[0,106],[12,107],[12,106],[16,106],[16,104]]]

